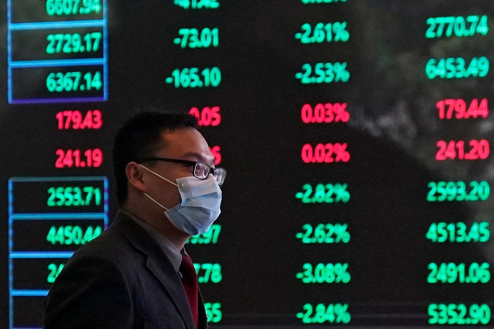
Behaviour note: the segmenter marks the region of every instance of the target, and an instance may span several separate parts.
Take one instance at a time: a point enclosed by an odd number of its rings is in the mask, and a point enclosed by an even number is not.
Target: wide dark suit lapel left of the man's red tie
[[[158,243],[122,211],[117,213],[111,227],[124,234],[136,249],[147,255],[146,266],[168,292],[187,328],[194,329],[196,327],[194,317],[180,277]]]

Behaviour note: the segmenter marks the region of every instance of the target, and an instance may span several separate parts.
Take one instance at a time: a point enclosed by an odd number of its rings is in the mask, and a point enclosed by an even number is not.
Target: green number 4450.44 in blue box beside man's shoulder
[[[80,226],[52,226],[46,235],[46,241],[52,245],[84,245],[101,232],[101,226],[88,226],[85,231]]]

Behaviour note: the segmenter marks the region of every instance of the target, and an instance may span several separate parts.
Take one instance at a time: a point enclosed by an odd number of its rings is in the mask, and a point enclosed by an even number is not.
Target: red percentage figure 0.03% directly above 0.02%
[[[314,108],[310,104],[302,107],[301,117],[303,123],[332,123],[348,122],[350,113],[346,111],[346,103],[317,104]]]

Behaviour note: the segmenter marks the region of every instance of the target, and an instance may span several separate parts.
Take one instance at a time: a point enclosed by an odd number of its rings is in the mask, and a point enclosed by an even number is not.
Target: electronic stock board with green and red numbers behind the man
[[[492,0],[0,9],[1,328],[41,328],[111,224],[113,136],[149,106],[228,170],[186,245],[211,328],[494,328]]]

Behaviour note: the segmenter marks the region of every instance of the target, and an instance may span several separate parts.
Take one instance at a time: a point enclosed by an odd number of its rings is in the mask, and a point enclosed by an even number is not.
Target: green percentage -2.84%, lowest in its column
[[[296,317],[305,324],[347,324],[352,320],[352,316],[348,311],[348,304],[317,304],[314,307],[312,304],[307,303],[302,309],[303,312],[297,313]]]

